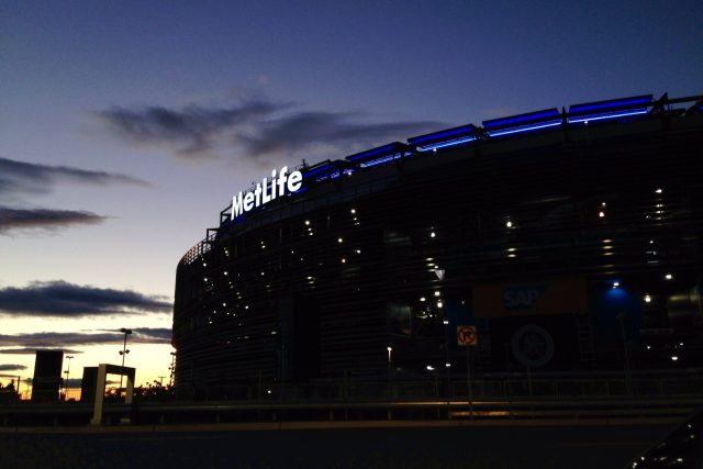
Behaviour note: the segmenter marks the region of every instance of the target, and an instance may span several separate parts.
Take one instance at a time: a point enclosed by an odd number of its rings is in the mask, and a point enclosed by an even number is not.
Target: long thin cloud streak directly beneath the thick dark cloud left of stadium
[[[167,328],[136,328],[129,338],[130,344],[169,344],[171,330]],[[124,334],[120,331],[88,333],[57,333],[41,332],[32,334],[2,335],[0,347],[24,348],[64,348],[76,346],[122,344]],[[65,353],[69,353],[65,350]]]

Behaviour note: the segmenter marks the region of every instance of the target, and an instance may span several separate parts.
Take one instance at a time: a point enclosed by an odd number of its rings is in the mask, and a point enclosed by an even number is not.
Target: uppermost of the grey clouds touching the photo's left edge
[[[48,166],[0,157],[0,196],[10,193],[47,193],[58,182],[87,185],[127,183],[148,186],[132,176],[90,171],[69,166]]]

